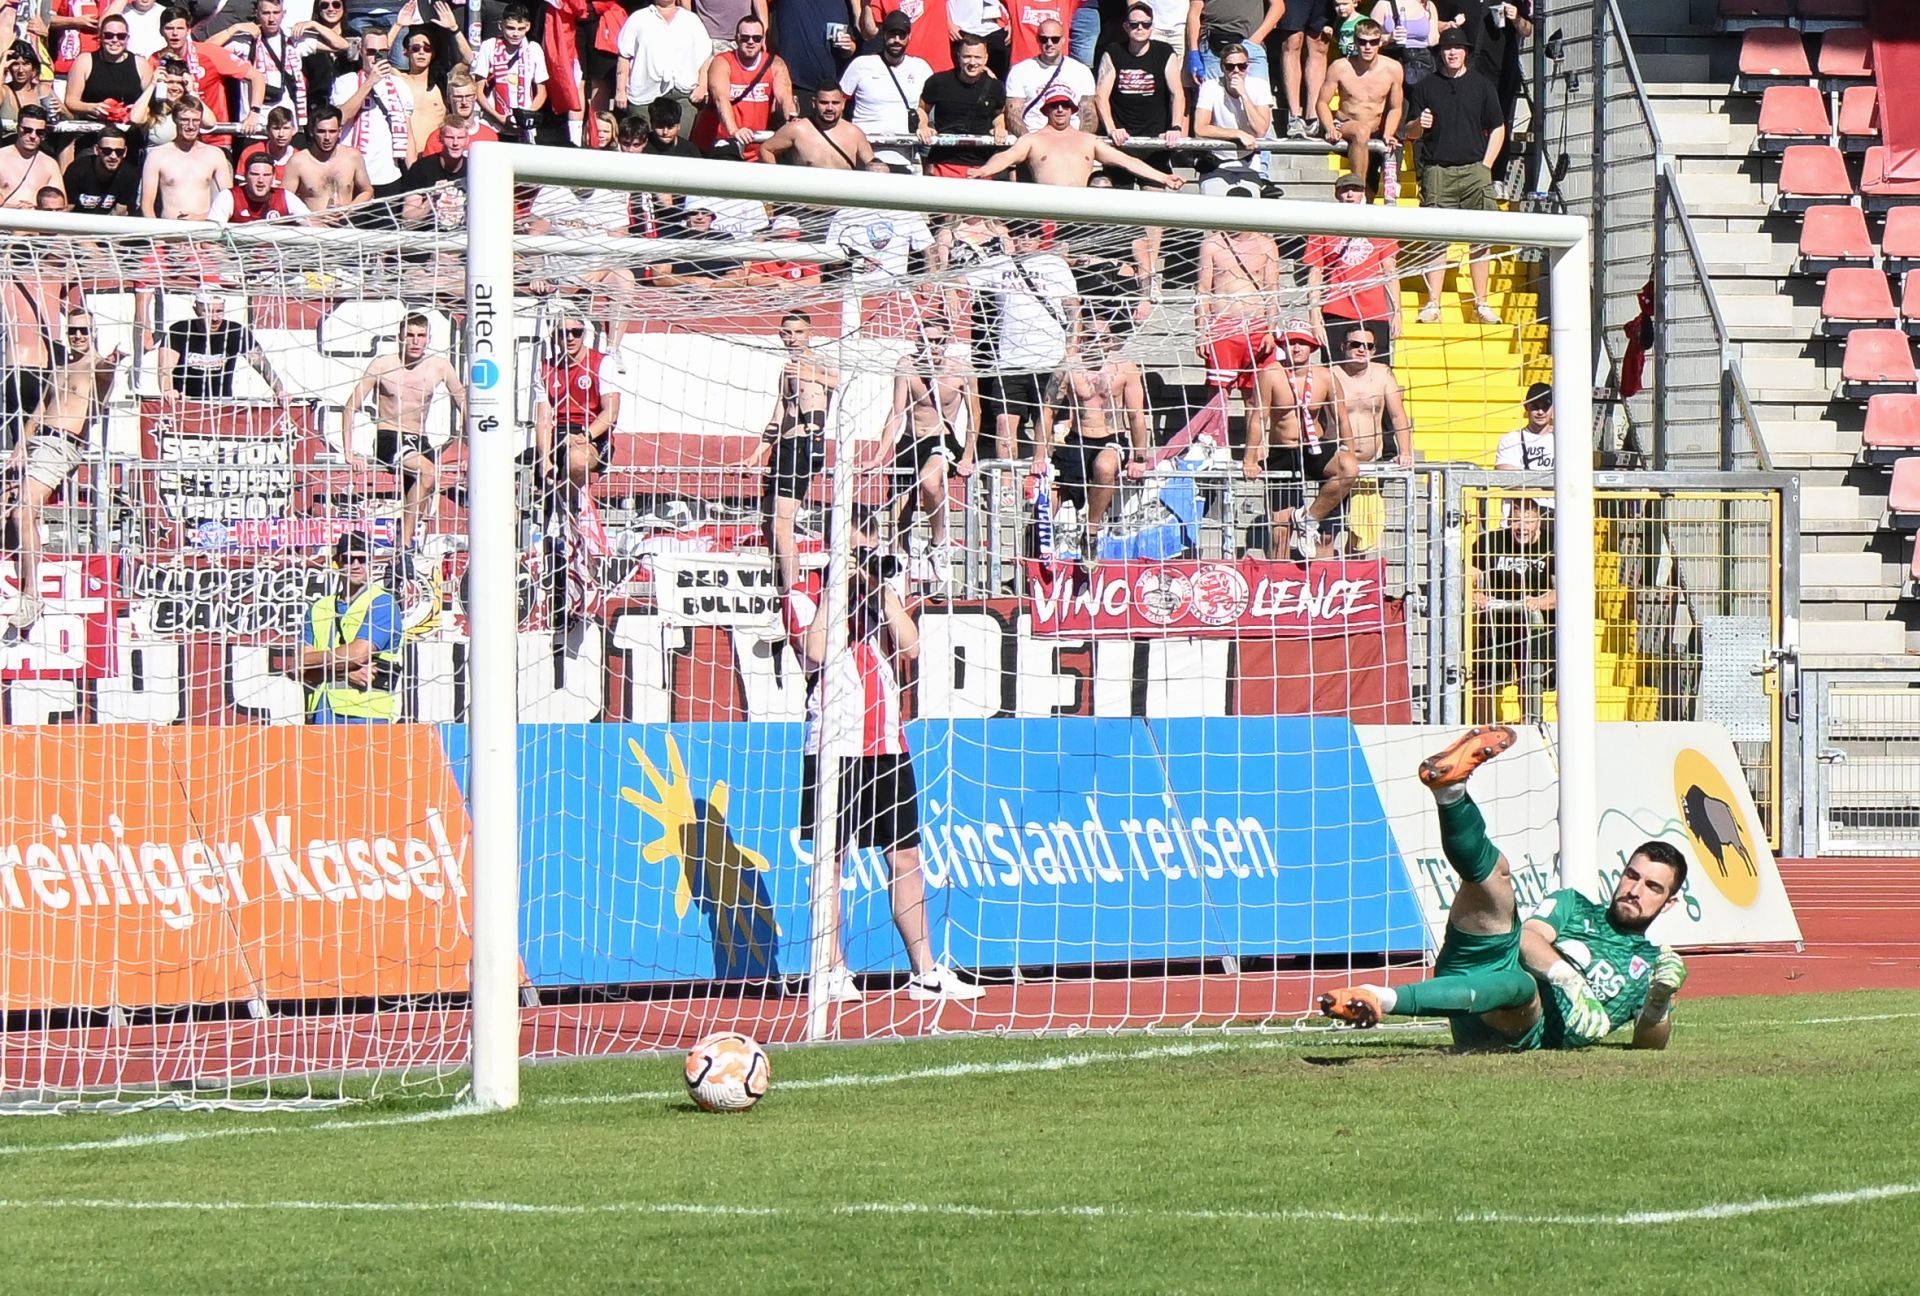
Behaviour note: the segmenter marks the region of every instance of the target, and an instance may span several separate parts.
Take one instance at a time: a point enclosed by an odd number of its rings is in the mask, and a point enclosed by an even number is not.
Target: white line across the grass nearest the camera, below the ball
[[[1644,1229],[1676,1223],[1747,1219],[1828,1206],[1864,1206],[1920,1194],[1920,1183],[1885,1183],[1868,1188],[1803,1192],[1797,1196],[1759,1196],[1745,1202],[1711,1202],[1674,1210],[1624,1213],[1524,1213],[1524,1212],[1371,1212],[1284,1206],[1279,1210],[1150,1210],[1133,1206],[972,1206],[966,1202],[847,1202],[839,1206],[732,1206],[716,1202],[188,1202],[140,1198],[15,1198],[0,1200],[0,1210],[38,1212],[156,1212],[156,1213],[340,1213],[340,1215],[712,1215],[755,1219],[826,1219],[847,1215],[939,1215],[960,1219],[1069,1219],[1069,1221],[1162,1221],[1162,1223],[1359,1223],[1359,1225],[1494,1225],[1569,1229]]]

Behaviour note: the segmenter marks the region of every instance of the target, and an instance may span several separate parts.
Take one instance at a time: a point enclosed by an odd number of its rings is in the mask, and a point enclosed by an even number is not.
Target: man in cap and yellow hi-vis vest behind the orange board
[[[300,680],[307,724],[399,720],[399,603],[372,578],[372,541],[348,532],[334,541],[340,593],[307,609],[300,637]]]

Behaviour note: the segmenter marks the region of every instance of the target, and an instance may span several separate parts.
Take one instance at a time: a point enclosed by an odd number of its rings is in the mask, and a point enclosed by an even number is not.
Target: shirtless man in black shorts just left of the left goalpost
[[[376,355],[361,380],[348,394],[340,411],[340,447],[353,467],[363,459],[353,453],[353,419],[372,396],[372,457],[382,468],[399,476],[399,549],[411,553],[420,530],[420,516],[434,495],[438,480],[434,444],[426,436],[426,413],[434,392],[445,388],[453,401],[455,426],[467,417],[467,397],[461,376],[445,355],[428,355],[432,336],[424,315],[407,315],[399,324],[399,355]],[[405,561],[405,559],[403,559]]]

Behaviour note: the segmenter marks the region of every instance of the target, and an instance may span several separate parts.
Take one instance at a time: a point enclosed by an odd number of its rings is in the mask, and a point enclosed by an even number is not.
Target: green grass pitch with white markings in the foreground
[[[745,1116],[651,1058],[534,1068],[503,1116],[17,1119],[0,1263],[250,1296],[1912,1292],[1916,1025],[1912,993],[1682,1000],[1665,1054],[954,1039],[774,1054]]]

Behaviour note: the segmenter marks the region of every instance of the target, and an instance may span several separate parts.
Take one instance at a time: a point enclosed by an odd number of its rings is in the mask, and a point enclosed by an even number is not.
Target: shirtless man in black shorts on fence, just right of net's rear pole
[[[973,48],[985,58],[985,44]],[[947,584],[952,566],[947,482],[973,476],[979,455],[979,386],[966,348],[952,346],[952,330],[939,315],[920,326],[920,346],[895,365],[893,409],[868,467],[881,467],[887,455],[899,459],[902,434],[912,438],[906,455],[912,484],[900,492],[893,532],[906,534],[914,507],[925,513],[931,545],[925,574],[935,584]],[[912,566],[910,563],[908,574],[914,574]]]

